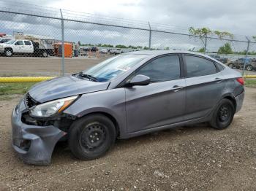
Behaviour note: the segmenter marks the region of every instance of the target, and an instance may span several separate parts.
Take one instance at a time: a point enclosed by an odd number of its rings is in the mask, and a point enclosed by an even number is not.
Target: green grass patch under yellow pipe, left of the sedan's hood
[[[34,84],[35,82],[0,83],[1,99],[7,99],[11,95],[22,95]]]

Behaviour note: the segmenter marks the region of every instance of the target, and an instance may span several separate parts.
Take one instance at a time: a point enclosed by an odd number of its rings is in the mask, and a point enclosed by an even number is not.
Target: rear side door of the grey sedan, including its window
[[[185,120],[206,116],[225,91],[225,80],[214,61],[197,55],[184,55],[186,77]]]

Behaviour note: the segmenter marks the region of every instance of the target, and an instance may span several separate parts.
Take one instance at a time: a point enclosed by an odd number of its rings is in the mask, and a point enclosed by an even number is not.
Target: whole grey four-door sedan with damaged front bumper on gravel
[[[243,100],[241,74],[211,57],[129,52],[31,87],[12,112],[12,147],[44,165],[66,139],[75,157],[92,160],[116,139],[198,122],[225,129]]]

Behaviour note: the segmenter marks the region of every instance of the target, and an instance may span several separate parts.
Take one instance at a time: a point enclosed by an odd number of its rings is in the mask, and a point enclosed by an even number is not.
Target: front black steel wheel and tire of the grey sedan
[[[102,114],[83,117],[69,128],[69,148],[80,160],[93,160],[105,155],[115,140],[115,125]]]

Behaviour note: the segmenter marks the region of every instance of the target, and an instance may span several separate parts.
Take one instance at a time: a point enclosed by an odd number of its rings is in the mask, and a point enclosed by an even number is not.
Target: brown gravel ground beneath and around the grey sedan
[[[207,124],[116,141],[108,155],[80,161],[67,144],[50,166],[26,165],[10,145],[18,98],[0,101],[0,190],[255,190],[256,88],[226,130]]]

